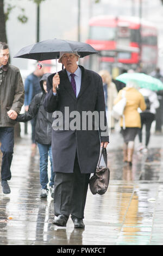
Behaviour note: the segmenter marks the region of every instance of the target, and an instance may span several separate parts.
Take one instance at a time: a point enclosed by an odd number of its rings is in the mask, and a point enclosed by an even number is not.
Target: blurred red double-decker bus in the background
[[[90,68],[96,70],[115,65],[135,70],[140,65],[151,72],[158,62],[157,29],[145,20],[140,23],[139,17],[92,17],[86,42],[99,51],[98,57],[89,57]]]

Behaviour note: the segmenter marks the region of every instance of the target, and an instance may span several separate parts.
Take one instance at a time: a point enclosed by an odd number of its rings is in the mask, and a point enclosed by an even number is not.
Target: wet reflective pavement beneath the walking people
[[[51,195],[40,199],[39,153],[30,135],[15,143],[11,193],[0,188],[0,245],[163,245],[163,136],[152,135],[148,153],[136,151],[122,162],[122,137],[111,133],[108,147],[110,184],[103,195],[88,191],[85,229],[52,224]]]

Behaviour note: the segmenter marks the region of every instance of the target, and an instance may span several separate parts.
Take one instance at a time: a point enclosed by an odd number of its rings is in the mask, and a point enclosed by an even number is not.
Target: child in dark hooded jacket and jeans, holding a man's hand
[[[52,113],[47,113],[43,107],[43,101],[47,93],[47,77],[49,73],[44,74],[40,80],[41,93],[36,94],[29,104],[28,111],[24,114],[18,114],[16,121],[27,122],[36,117],[35,141],[40,154],[40,198],[47,198],[50,190],[52,198],[54,197],[54,176],[52,160]],[[51,162],[51,178],[48,180],[48,156]],[[49,182],[49,190],[47,184]]]

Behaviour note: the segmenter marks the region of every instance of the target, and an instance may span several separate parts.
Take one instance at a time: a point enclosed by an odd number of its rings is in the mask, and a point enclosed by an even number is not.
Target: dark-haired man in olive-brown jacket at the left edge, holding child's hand
[[[8,64],[9,47],[0,42],[0,142],[3,153],[1,185],[3,193],[10,193],[11,162],[14,149],[14,125],[24,102],[24,86],[20,70]]]

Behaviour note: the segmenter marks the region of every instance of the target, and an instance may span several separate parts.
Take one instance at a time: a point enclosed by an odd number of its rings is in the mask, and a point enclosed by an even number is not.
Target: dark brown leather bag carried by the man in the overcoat
[[[99,166],[102,155],[104,157],[104,161],[106,164],[105,167]],[[89,181],[90,191],[92,192],[92,194],[104,194],[108,189],[110,170],[107,164],[108,164],[107,153],[106,153],[106,149],[103,147],[101,151],[101,155],[99,157],[98,164],[97,164],[96,172],[95,174],[93,174],[93,176],[90,178],[90,181]]]

